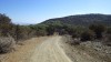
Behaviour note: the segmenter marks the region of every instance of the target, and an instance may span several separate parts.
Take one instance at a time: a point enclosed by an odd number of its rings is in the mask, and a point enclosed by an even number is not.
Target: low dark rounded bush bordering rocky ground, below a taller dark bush
[[[83,33],[81,33],[81,41],[90,41],[93,40],[94,33],[92,31],[84,31]]]

